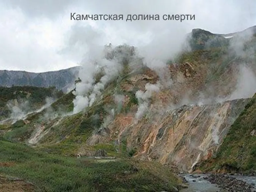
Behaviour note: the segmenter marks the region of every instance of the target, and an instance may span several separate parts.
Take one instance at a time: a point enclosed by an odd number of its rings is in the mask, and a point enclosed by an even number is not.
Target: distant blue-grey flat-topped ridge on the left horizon
[[[80,67],[72,67],[43,73],[0,70],[0,86],[55,86],[66,92],[70,86],[74,85],[79,69]]]

